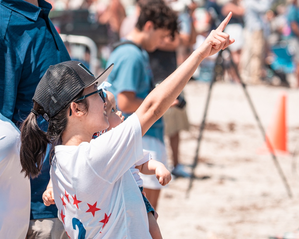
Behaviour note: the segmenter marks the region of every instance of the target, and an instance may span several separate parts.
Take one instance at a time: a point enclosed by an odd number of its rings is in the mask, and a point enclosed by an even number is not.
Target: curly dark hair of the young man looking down
[[[136,23],[138,30],[142,30],[147,21],[154,24],[154,28],[170,30],[170,36],[178,31],[178,15],[163,0],[139,0],[140,15]]]

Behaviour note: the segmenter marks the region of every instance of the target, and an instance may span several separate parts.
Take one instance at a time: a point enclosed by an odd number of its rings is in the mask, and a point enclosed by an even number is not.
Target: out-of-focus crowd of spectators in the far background
[[[86,10],[89,12],[87,21],[105,27],[105,40],[98,44],[99,36],[94,36],[97,39],[93,39],[97,43],[97,57],[102,68],[105,67],[113,44],[132,30],[138,16],[138,4],[133,0],[52,0],[50,3],[53,12]],[[299,85],[297,0],[170,0],[167,3],[179,14],[183,33],[180,34],[178,43],[167,43],[172,44],[170,48],[177,44],[178,65],[231,11],[233,17],[225,31],[236,40],[230,47],[230,52],[242,80],[248,84],[290,87],[288,76],[291,74],[296,77],[292,86]],[[60,29],[61,21],[56,16],[50,14],[50,18]],[[62,33],[72,34],[71,31],[63,30]],[[82,34],[88,35],[85,32]],[[212,78],[215,57],[202,63],[202,67],[194,75],[195,79],[208,81]],[[226,64],[224,68],[223,79],[239,81],[230,64]]]

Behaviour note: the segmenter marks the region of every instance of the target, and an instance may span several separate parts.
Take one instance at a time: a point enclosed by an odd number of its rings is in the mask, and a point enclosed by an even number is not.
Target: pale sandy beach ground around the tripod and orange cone
[[[191,126],[181,133],[179,148],[187,169],[194,160],[208,86],[190,81],[184,90]],[[265,130],[274,121],[281,94],[287,96],[289,154],[277,159],[293,197],[271,155],[257,153],[264,140],[241,85],[216,82],[189,197],[186,178],[173,179],[161,191],[157,212],[164,239],[266,239],[299,228],[298,90],[247,88]]]

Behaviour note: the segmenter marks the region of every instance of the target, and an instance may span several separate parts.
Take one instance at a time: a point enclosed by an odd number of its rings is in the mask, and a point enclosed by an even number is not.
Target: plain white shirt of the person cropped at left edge
[[[30,181],[21,174],[20,131],[0,114],[0,238],[24,239],[30,220]]]

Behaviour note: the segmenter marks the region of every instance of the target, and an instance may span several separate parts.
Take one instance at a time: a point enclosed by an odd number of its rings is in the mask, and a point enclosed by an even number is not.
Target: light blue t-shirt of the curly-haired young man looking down
[[[107,81],[112,84],[109,91],[115,95],[115,99],[123,91],[135,92],[138,98],[145,99],[152,89],[153,78],[147,51],[133,44],[120,45],[111,53],[107,66],[112,63],[114,63],[113,71]],[[118,103],[116,102],[116,104]],[[128,118],[129,115],[123,113],[125,118]],[[163,142],[162,119],[158,119],[145,135],[155,137]]]

